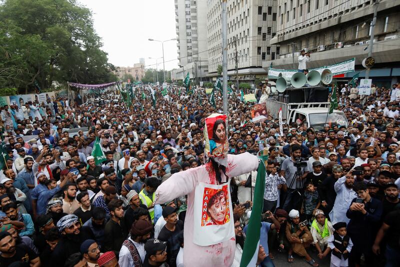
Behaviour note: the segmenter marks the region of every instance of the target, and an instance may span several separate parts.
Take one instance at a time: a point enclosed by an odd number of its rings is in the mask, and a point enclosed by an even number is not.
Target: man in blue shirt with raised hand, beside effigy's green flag
[[[247,217],[250,219],[251,211],[247,212]],[[272,223],[266,222],[266,221],[261,221],[261,230],[260,230],[260,235],[259,235],[259,244],[262,245],[264,248],[265,254],[268,255],[268,231],[270,229],[275,229],[280,227],[280,223],[276,220],[276,218],[273,216],[272,212],[267,210],[265,212],[266,219],[271,219]],[[243,232],[247,232],[247,226],[244,226]],[[275,267],[275,265],[272,262],[272,259],[270,257],[265,257],[264,260],[261,261],[260,265],[262,267]]]

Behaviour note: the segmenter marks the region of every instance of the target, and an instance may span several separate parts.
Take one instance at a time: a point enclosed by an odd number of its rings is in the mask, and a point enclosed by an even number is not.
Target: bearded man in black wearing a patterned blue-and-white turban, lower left
[[[51,255],[53,266],[63,266],[69,255],[79,252],[83,236],[80,232],[80,222],[78,217],[73,214],[63,216],[57,222],[58,231],[61,239],[54,248]]]

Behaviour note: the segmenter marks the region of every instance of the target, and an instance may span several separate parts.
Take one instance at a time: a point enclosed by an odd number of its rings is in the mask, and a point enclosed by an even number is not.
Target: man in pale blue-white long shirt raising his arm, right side
[[[333,208],[329,212],[329,218],[332,225],[336,222],[346,222],[349,219],[346,216],[346,211],[350,206],[351,201],[357,196],[353,190],[354,175],[352,170],[334,183],[334,191],[336,192],[336,198],[334,200]]]

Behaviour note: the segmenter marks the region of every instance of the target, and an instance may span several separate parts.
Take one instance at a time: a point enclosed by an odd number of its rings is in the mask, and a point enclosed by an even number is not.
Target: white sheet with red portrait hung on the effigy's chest
[[[193,243],[213,245],[234,236],[229,182],[199,183],[194,196]]]

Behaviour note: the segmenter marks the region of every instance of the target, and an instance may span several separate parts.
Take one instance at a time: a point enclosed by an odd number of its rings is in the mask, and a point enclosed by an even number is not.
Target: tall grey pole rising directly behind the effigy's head
[[[226,126],[228,116],[228,60],[227,60],[227,12],[226,12],[226,0],[222,0],[222,103],[223,113],[226,115]],[[228,127],[226,127],[226,130]]]

